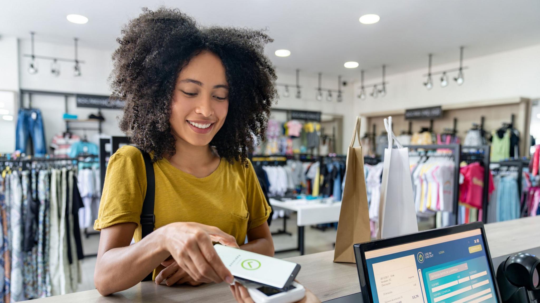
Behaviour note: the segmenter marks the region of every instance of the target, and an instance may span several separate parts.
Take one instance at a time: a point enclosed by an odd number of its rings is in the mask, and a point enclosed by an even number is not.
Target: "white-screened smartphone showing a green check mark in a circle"
[[[221,261],[234,277],[260,285],[286,290],[300,271],[300,264],[264,254],[215,244]]]

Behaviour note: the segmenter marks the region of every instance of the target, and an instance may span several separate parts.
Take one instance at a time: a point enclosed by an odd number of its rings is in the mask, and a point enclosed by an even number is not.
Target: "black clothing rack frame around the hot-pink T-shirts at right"
[[[488,202],[489,202],[489,156],[491,147],[482,146],[463,146],[461,160],[467,164],[481,162],[484,167],[484,187],[482,188],[482,222],[488,223]]]

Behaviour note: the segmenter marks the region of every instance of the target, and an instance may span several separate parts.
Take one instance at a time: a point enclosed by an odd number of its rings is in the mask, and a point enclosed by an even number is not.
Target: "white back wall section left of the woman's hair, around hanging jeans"
[[[112,68],[111,52],[79,47],[78,57],[85,61],[85,63],[80,64],[82,75],[80,77],[73,75],[75,63],[59,62],[60,75],[55,77],[50,73],[50,60],[37,59],[38,73],[28,73],[30,58],[24,57],[24,54],[30,53],[30,42],[21,40],[19,46],[22,89],[97,95],[110,94],[107,77],[109,77]],[[41,56],[49,57],[73,58],[75,56],[74,46],[69,41],[65,45],[36,42],[35,52]],[[28,94],[23,95],[23,104],[25,107],[29,106]],[[65,122],[62,120],[62,115],[65,113],[63,96],[32,94],[32,107],[42,111],[45,140],[48,144],[55,134],[65,131]],[[87,119],[89,114],[97,114],[97,109],[77,107],[75,98],[70,97],[68,98],[68,113],[78,115],[78,119]],[[121,112],[117,109],[103,109],[102,113],[105,118],[102,125],[103,134],[123,135],[118,128],[117,120],[117,116]],[[77,125],[72,124],[72,127],[97,128],[97,123],[77,123]],[[95,130],[73,130],[73,133],[80,136],[86,134],[90,140],[95,139],[98,134]],[[96,139],[93,141],[97,142]]]

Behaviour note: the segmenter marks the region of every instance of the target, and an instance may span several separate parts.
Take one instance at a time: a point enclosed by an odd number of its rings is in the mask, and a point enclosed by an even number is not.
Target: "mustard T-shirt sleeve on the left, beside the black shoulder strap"
[[[139,225],[145,194],[146,171],[143,156],[133,147],[119,149],[111,156],[107,166],[94,229],[101,230],[128,222]]]

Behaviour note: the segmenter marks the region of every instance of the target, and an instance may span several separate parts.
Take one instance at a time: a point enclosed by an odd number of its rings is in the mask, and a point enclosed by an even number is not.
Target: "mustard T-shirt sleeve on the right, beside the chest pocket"
[[[253,169],[251,161],[248,160],[248,168],[246,169],[246,187],[247,187],[247,210],[249,212],[249,220],[247,230],[254,229],[265,223],[270,216],[271,208],[266,201],[265,195],[262,192],[261,185]]]

